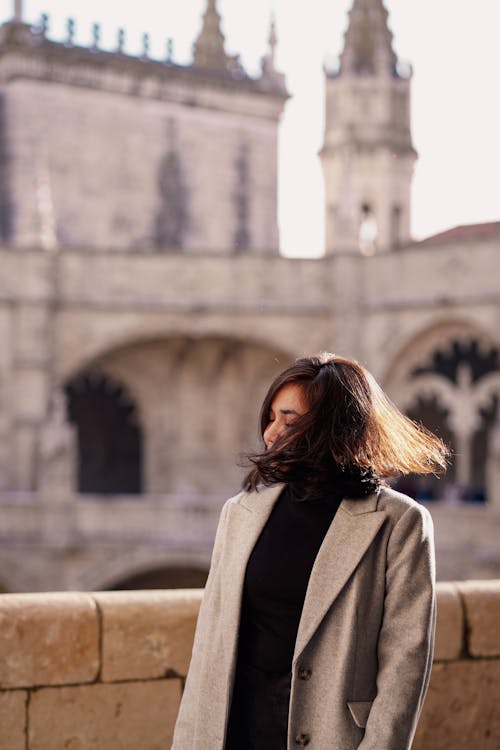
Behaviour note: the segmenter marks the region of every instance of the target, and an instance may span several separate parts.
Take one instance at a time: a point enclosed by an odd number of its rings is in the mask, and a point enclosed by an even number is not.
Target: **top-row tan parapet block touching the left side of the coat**
[[[102,680],[185,676],[201,591],[94,594],[102,614]]]

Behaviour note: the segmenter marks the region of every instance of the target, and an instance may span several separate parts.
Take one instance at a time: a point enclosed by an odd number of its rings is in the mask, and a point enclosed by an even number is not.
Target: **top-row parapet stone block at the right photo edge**
[[[469,654],[500,656],[500,581],[457,585],[465,607]]]

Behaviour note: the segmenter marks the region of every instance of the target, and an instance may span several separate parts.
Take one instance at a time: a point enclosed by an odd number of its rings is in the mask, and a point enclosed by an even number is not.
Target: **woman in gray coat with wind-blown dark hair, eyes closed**
[[[357,362],[297,360],[222,510],[174,750],[406,750],[432,665],[432,522],[383,478],[447,450]]]

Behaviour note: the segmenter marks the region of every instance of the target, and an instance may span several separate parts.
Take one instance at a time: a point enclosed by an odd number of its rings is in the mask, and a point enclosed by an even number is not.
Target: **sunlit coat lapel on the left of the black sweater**
[[[227,667],[232,669],[236,657],[241,598],[245,571],[255,542],[264,528],[283,484],[244,495],[229,509],[222,573],[223,629]]]

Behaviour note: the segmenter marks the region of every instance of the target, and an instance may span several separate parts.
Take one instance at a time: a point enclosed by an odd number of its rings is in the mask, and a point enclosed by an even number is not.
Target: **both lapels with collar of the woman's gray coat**
[[[284,484],[240,495],[230,509],[223,571],[226,655],[236,657],[243,581],[248,558]],[[342,500],[311,571],[295,644],[298,659],[331,605],[375,538],[386,514],[377,511],[378,494]]]

